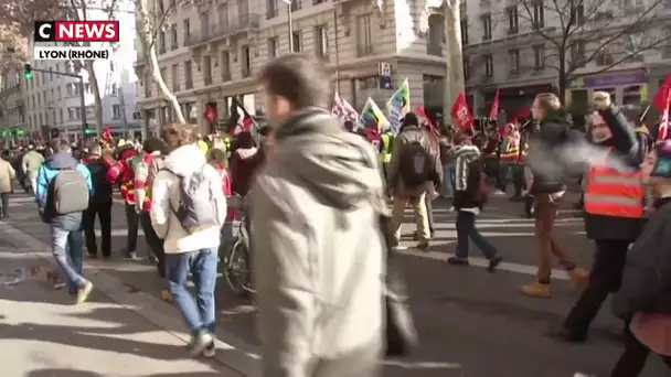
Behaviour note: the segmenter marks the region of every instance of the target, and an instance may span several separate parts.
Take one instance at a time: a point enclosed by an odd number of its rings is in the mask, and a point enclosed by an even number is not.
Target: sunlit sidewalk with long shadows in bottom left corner
[[[99,290],[73,305],[43,277],[46,265],[0,235],[0,365],[3,377],[238,377],[216,360],[190,359],[182,336],[159,328]]]

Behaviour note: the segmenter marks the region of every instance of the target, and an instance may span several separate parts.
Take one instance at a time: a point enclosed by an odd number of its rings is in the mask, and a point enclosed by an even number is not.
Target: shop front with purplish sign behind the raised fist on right
[[[574,114],[586,115],[595,91],[607,91],[615,104],[641,109],[649,100],[649,77],[645,69],[622,71],[574,79],[566,89],[566,105]]]

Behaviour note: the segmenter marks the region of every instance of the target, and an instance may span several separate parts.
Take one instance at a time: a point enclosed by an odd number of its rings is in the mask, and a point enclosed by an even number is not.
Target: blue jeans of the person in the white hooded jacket
[[[170,293],[182,313],[191,334],[206,330],[214,334],[216,287],[216,249],[200,249],[181,254],[166,254],[166,269]],[[191,297],[187,281],[189,273],[195,284],[195,300]]]

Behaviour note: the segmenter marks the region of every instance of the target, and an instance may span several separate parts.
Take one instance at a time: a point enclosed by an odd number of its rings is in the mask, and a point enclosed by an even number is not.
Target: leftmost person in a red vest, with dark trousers
[[[138,245],[138,213],[135,209],[135,174],[134,165],[139,162],[138,152],[132,144],[124,144],[118,151],[118,161],[107,171],[107,180],[111,184],[120,183],[121,198],[125,203],[128,238],[121,254],[126,259],[137,260]]]

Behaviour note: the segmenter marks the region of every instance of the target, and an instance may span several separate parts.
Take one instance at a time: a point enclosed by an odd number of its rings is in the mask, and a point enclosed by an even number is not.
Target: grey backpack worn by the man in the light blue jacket
[[[53,203],[56,215],[88,208],[88,183],[77,169],[61,170],[53,180]]]

